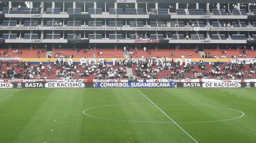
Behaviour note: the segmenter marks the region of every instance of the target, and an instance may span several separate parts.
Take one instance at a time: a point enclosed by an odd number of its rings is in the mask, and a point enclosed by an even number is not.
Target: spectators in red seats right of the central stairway
[[[208,65],[209,64],[209,65]],[[188,65],[180,65],[176,62],[163,62],[159,65],[149,62],[139,62],[135,66],[135,73],[138,78],[158,78],[159,72],[166,73],[164,78],[252,78],[256,71],[256,62],[245,61],[238,63],[209,62],[202,60],[198,63],[192,62]],[[247,67],[247,68],[246,68]]]

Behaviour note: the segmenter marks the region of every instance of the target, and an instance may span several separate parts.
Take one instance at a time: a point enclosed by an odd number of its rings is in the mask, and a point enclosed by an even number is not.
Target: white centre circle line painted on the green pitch
[[[139,104],[139,103],[138,103]],[[142,103],[143,104],[143,103]],[[156,103],[156,104],[168,104],[168,103]],[[101,108],[101,107],[108,107],[108,106],[119,106],[119,105],[136,105],[136,104],[114,104],[114,105],[104,105],[104,106],[97,106],[97,107],[92,107],[88,108],[86,110],[83,110],[83,114],[89,116],[89,117],[94,117],[94,118],[99,118],[99,119],[105,119],[105,120],[114,120],[114,121],[127,121],[127,122],[141,122],[141,123],[173,123],[173,122],[151,122],[151,121],[135,121],[135,120],[120,120],[120,119],[109,119],[109,118],[103,118],[103,117],[95,117],[92,115],[89,115],[86,113],[87,110],[95,109],[95,108]],[[240,110],[235,110],[235,109],[230,109],[230,108],[224,108],[224,107],[218,107],[218,106],[211,106],[211,105],[199,105],[199,104],[168,104],[168,105],[192,105],[192,106],[206,106],[206,107],[215,107],[215,108],[221,108],[221,109],[227,109],[227,110],[234,110],[242,113],[241,116],[231,118],[231,119],[223,119],[223,120],[216,120],[216,121],[202,121],[202,122],[176,122],[176,123],[210,123],[210,122],[221,122],[221,121],[229,121],[229,120],[235,120],[240,117],[243,117],[245,114],[240,111]]]

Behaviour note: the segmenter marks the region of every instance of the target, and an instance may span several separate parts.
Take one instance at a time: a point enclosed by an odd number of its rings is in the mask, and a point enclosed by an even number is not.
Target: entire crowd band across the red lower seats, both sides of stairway
[[[156,61],[155,61],[156,62]],[[134,75],[137,78],[252,78],[255,77],[256,62],[250,61],[246,65],[246,61],[222,63],[209,62],[203,60],[199,62],[191,62],[188,65],[181,65],[178,61],[164,61],[155,65],[154,60],[135,61],[132,58],[120,59],[115,61],[115,65],[108,64],[106,60],[91,63],[86,62],[77,64],[75,62],[65,62],[64,59],[47,63],[40,62],[31,64],[31,62],[0,62],[0,78],[11,79],[74,79],[88,78],[94,75],[94,78],[128,78],[126,67],[133,68]],[[3,69],[3,65],[4,68]]]

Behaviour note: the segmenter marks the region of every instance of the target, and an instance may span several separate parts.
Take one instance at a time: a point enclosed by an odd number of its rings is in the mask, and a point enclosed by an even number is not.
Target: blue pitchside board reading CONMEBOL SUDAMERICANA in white
[[[94,87],[176,87],[176,82],[95,82]]]

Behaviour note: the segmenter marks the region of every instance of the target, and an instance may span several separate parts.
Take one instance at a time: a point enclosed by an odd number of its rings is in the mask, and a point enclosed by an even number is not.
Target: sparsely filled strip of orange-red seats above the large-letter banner
[[[212,50],[202,52],[185,49],[0,49],[0,58],[256,58],[256,51],[245,50]]]

